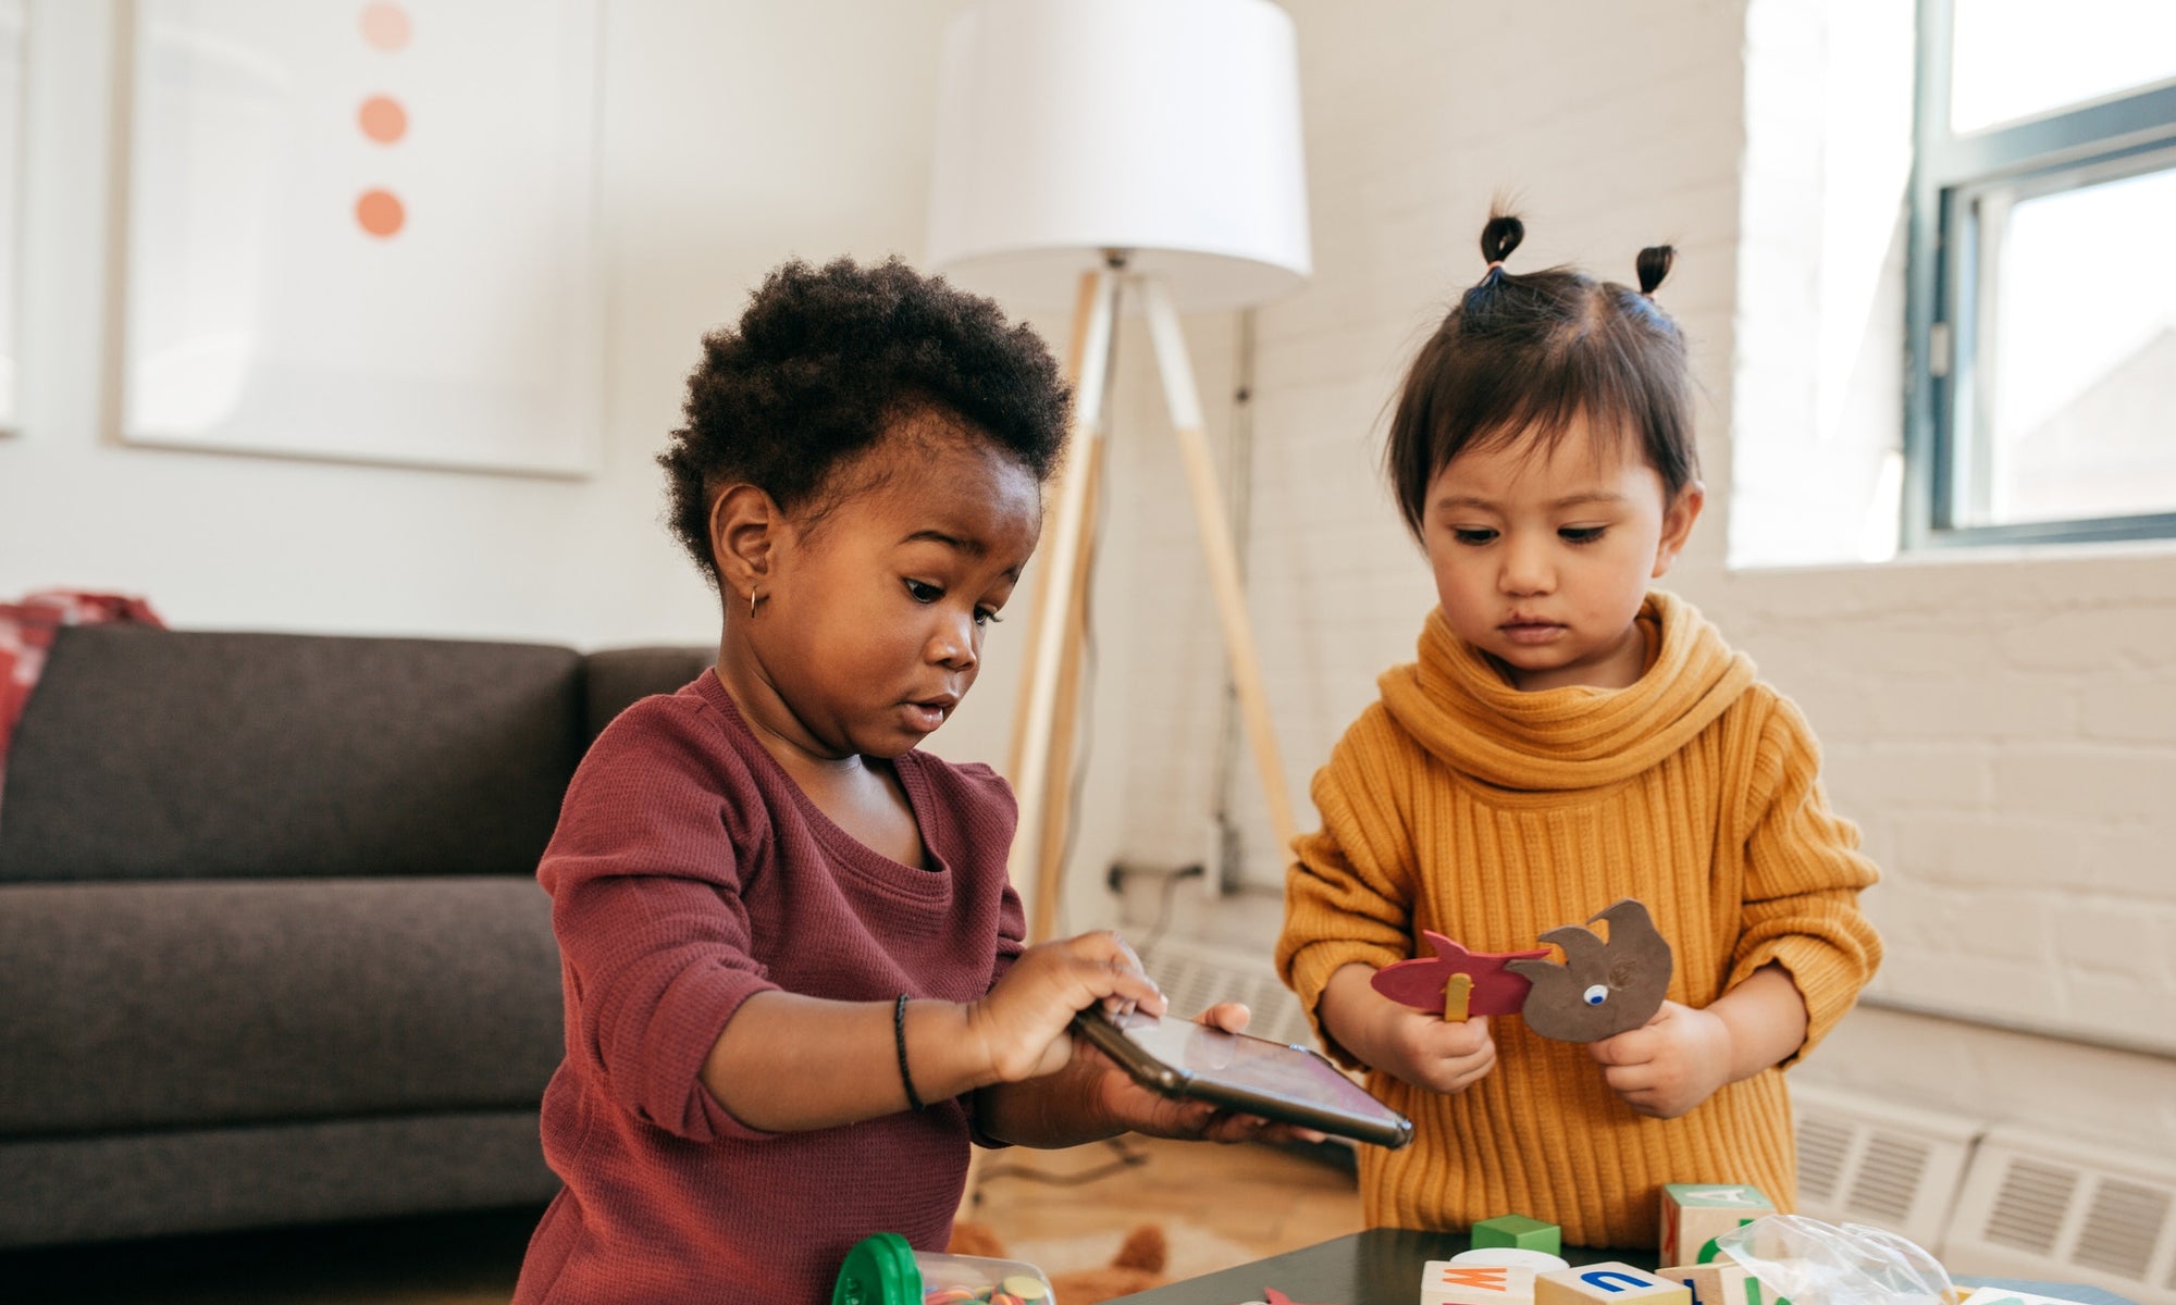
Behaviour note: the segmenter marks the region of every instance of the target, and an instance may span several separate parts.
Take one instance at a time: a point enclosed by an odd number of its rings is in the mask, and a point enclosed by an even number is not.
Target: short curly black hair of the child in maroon
[[[831,474],[920,413],[1012,452],[1036,481],[1066,442],[1066,385],[1042,337],[899,259],[777,268],[738,326],[703,337],[681,413],[657,463],[672,533],[714,583],[720,485],[757,485],[786,513],[820,515],[833,507]]]

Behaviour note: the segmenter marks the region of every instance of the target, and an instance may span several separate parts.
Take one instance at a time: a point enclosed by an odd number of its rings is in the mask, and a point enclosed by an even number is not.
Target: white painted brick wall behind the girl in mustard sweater
[[[1810,539],[1802,557],[1854,557],[1869,537],[1880,546],[1874,481],[1893,444],[1897,339],[1884,324],[1897,302],[1891,283],[1856,270],[1891,259],[1893,276],[1893,233],[1867,237],[1821,194],[1797,207],[1789,196],[1863,187],[1863,172],[1893,154],[1880,152],[1878,126],[1860,124],[1865,150],[1823,137],[1808,126],[1821,113],[1767,80],[1789,89],[1780,57],[1832,59],[1837,44],[1804,39],[1804,7],[1789,0],[1752,0],[1752,17],[1743,0],[1288,9],[1316,276],[1258,315],[1247,548],[1303,822],[1308,776],[1373,698],[1373,676],[1412,657],[1432,602],[1377,472],[1382,418],[1421,335],[1482,270],[1491,194],[1510,191],[1528,215],[1530,244],[1514,257],[1525,268],[1569,259],[1628,278],[1639,246],[1671,239],[1680,261],[1660,298],[1693,339],[1710,489],[1673,587],[1806,707],[1823,739],[1834,803],[1887,872],[1869,894],[1891,944],[1876,994],[1985,1014],[1867,1009],[1804,1072],[2176,1153],[2169,1055],[1991,1027],[2176,1051],[2176,550],[1723,566],[1730,529]],[[1791,139],[1826,141],[1819,165],[1763,154]],[[1839,268],[1852,274],[1839,281]],[[1845,311],[1858,322],[1839,320]],[[1852,376],[1837,381],[1839,365]],[[1819,489],[1819,505],[1793,487]],[[1741,492],[1750,502],[1734,511]],[[1867,515],[1839,524],[1837,502],[1852,496]],[[1208,809],[1197,794],[1214,737],[1197,729],[1216,674],[1214,626],[1195,572],[1177,563],[1190,544],[1173,535],[1164,546],[1179,552],[1164,555],[1147,544],[1160,524],[1132,529],[1145,546],[1125,583],[1138,626],[1123,657],[1132,716],[1153,722],[1158,742],[1123,759],[1121,840],[1134,855],[1184,861]],[[1249,877],[1273,885],[1251,770],[1238,792]]]

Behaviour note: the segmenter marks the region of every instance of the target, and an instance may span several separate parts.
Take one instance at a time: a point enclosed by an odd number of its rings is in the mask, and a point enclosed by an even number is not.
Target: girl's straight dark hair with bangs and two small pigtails
[[[1504,272],[1525,224],[1491,213],[1488,272],[1443,318],[1406,372],[1384,461],[1406,526],[1421,537],[1427,483],[1467,448],[1534,428],[1545,446],[1586,413],[1602,437],[1641,437],[1676,498],[1699,476],[1684,337],[1649,298],[1676,250],[1639,252],[1639,289],[1575,268]]]

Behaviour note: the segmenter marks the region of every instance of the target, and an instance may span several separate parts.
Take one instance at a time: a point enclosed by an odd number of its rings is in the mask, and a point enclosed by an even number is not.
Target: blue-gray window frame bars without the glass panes
[[[1969,472],[1969,455],[1980,448],[1971,428],[1976,296],[1982,281],[1978,200],[2022,187],[2061,194],[2159,170],[2139,167],[2156,154],[2169,154],[2165,165],[2176,167],[2176,78],[1956,135],[1950,130],[1952,4],[1919,0],[1900,544],[1924,550],[2176,537],[2176,507],[2137,515],[1958,524],[1961,481]]]

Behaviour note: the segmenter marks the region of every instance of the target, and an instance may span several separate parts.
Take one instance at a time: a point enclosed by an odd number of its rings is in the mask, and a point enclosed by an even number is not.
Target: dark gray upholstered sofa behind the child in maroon
[[[63,631],[0,790],[0,1246],[546,1201],[537,853],[709,657]]]

